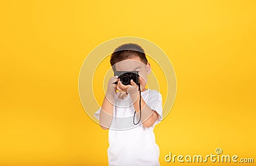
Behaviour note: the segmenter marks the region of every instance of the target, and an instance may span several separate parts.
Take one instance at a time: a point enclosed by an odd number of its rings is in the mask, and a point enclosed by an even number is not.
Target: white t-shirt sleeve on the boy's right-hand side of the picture
[[[163,119],[163,99],[162,95],[156,91],[153,90],[151,93],[148,94],[148,107],[150,107],[152,110],[156,110],[157,114],[159,114],[159,119],[156,120],[154,125],[159,123]]]

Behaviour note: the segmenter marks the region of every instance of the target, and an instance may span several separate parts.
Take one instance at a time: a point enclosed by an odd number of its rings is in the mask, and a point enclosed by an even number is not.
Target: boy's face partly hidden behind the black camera
[[[125,59],[115,64],[116,71],[138,71],[140,75],[141,91],[145,90],[147,85],[147,75],[150,73],[150,64],[143,63],[140,57],[134,56],[130,59]]]

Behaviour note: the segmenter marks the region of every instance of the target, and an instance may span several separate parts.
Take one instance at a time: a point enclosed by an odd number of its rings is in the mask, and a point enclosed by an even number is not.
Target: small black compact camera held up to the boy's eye
[[[137,85],[139,84],[139,73],[138,71],[115,71],[114,75],[118,75],[118,79],[125,86],[131,85],[131,80],[133,80]],[[115,82],[117,84],[117,82]]]

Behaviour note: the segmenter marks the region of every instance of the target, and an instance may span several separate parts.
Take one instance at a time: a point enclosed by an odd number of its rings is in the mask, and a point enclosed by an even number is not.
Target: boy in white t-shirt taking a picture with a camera
[[[126,43],[114,50],[110,63],[114,72],[138,71],[140,84],[131,80],[124,85],[117,75],[111,77],[102,107],[94,114],[101,128],[109,129],[109,165],[159,165],[153,130],[163,116],[162,96],[145,88],[151,72],[145,52]]]

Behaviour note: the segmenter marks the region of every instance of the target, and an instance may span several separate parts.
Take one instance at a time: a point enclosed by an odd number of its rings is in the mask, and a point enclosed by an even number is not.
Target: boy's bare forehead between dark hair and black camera
[[[134,71],[145,68],[146,64],[142,63],[140,58],[125,59],[115,64],[117,71]]]

